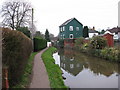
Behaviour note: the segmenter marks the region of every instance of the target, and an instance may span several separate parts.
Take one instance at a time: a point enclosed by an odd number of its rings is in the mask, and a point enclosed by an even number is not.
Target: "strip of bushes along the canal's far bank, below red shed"
[[[83,41],[84,39],[76,40],[76,50],[109,61],[120,62],[120,49],[116,47],[107,47],[107,43],[104,38],[94,37],[88,43],[84,43]]]

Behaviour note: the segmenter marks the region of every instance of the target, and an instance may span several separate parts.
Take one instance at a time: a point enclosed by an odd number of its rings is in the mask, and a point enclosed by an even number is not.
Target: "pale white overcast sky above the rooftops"
[[[6,0],[0,1],[0,6]],[[26,0],[34,8],[34,21],[38,31],[46,28],[55,36],[59,25],[75,17],[84,26],[102,30],[118,25],[120,0]]]

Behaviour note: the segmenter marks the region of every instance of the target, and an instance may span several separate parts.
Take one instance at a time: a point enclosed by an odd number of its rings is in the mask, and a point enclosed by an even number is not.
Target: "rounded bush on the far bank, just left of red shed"
[[[103,37],[93,37],[90,41],[90,48],[92,49],[102,49],[107,46],[107,40]]]

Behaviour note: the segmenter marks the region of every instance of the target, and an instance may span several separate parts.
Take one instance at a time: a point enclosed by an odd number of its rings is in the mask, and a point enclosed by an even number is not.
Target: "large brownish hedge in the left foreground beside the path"
[[[22,32],[2,29],[2,63],[8,67],[10,87],[19,83],[32,52],[32,41]]]

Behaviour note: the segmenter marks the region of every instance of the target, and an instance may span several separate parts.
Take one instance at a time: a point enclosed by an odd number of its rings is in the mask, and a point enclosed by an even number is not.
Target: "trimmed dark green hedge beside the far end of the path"
[[[34,38],[34,51],[39,51],[47,47],[47,41],[43,38]]]

